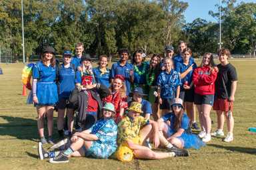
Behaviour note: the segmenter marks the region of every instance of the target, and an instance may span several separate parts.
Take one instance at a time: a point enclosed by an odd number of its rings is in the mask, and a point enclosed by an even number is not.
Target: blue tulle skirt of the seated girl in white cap
[[[183,142],[183,147],[189,149],[191,147],[195,149],[200,149],[200,147],[205,146],[205,143],[193,133],[182,133],[181,136],[177,137]]]

